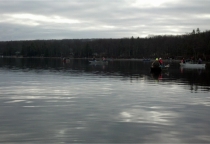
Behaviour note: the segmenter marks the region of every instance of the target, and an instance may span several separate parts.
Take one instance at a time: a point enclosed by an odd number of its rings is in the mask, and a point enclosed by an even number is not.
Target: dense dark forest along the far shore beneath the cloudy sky
[[[74,58],[191,58],[210,60],[210,31],[121,39],[63,39],[0,42],[0,55]]]

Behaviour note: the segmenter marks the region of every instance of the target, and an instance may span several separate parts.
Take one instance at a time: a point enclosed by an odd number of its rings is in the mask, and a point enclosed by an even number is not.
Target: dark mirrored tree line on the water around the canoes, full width
[[[178,65],[172,63],[171,69],[161,73],[161,75],[152,75],[150,73],[151,62],[141,61],[110,61],[108,65],[90,65],[88,60],[71,60],[70,63],[63,63],[62,59],[0,59],[0,67],[11,69],[31,69],[31,70],[73,70],[75,72],[96,73],[103,75],[121,75],[123,77],[141,77],[143,75],[158,80],[161,76],[170,77],[173,80],[185,81],[190,86],[203,86],[210,90],[210,73],[206,70],[183,69],[181,72]],[[170,81],[170,80],[169,80]],[[194,87],[194,88],[195,88]]]

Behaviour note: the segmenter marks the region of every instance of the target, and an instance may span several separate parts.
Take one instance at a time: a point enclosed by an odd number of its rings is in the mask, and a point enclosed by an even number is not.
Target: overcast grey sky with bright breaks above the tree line
[[[0,0],[0,41],[210,30],[210,0]]]

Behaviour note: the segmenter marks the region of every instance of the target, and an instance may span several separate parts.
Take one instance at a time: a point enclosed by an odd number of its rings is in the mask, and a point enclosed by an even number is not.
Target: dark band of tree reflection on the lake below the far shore
[[[169,70],[160,74],[150,73],[151,62],[141,61],[109,61],[104,65],[91,65],[88,60],[71,59],[68,63],[63,63],[62,59],[0,59],[1,69],[12,71],[48,73],[52,75],[97,75],[110,78],[130,80],[130,82],[142,81],[147,83],[175,82],[185,85],[183,88],[191,92],[210,90],[210,73],[207,69],[184,69],[179,63],[168,62],[171,67]]]

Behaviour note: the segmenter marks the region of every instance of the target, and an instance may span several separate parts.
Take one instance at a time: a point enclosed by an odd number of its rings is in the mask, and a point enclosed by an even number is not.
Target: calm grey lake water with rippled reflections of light
[[[210,71],[0,59],[0,143],[210,143]]]

